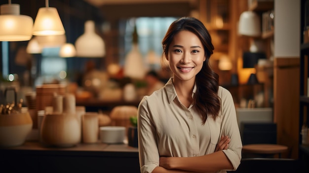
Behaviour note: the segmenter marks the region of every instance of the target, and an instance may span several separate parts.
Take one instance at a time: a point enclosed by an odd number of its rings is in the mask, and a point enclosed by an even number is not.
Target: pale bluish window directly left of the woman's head
[[[177,19],[177,17],[139,17],[121,20],[119,50],[122,50],[120,56],[123,58],[120,59],[119,64],[124,64],[125,55],[132,48],[132,35],[136,26],[138,47],[145,65],[150,66],[151,69],[158,69],[162,55],[162,39],[170,24]],[[152,57],[149,56],[151,53]]]

